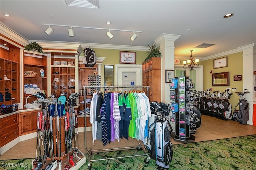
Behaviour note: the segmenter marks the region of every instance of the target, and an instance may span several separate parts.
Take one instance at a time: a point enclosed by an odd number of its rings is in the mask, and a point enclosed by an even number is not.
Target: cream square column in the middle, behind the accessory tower
[[[170,102],[170,83],[165,83],[165,70],[174,70],[174,41],[180,35],[166,34],[160,35],[155,42],[160,46],[161,59],[161,102]]]

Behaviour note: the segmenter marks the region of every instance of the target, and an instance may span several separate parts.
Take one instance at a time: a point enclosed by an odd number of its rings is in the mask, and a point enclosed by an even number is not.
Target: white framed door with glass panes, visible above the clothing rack
[[[142,86],[142,65],[115,64],[115,86]]]

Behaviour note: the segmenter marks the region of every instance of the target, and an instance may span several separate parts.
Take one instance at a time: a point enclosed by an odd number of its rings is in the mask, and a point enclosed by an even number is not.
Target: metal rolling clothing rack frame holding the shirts
[[[86,88],[104,88],[104,90],[105,89],[111,90],[111,89],[114,89],[114,88],[116,88],[116,89],[118,89],[118,88],[120,88],[120,89],[121,88],[128,88],[128,89],[147,88],[147,96],[148,96],[148,90],[149,90],[149,86],[83,86],[83,88],[84,88],[84,92],[86,92]],[[86,102],[85,101],[86,101],[86,93],[84,93],[84,106],[85,106],[84,108],[86,108]],[[148,139],[147,139],[147,143],[144,147],[142,147],[142,145],[139,143],[138,146],[131,146],[131,147],[119,147],[119,148],[98,149],[98,150],[92,150],[92,148],[90,148],[90,150],[88,150],[87,147],[86,147],[86,115],[84,115],[84,147],[85,147],[86,152],[89,154],[89,160],[88,160],[89,170],[91,170],[91,168],[92,168],[91,163],[90,163],[91,161],[128,158],[128,157],[134,157],[134,156],[147,156],[147,158],[144,159],[144,162],[146,164],[148,164],[149,160],[150,160],[150,156],[148,155],[148,153],[145,150],[147,145],[148,145]],[[132,148],[136,148],[137,150],[142,148],[143,151],[144,151],[144,154],[137,154],[137,155],[131,155],[131,156],[120,156],[120,157],[114,157],[114,158],[94,159],[94,160],[91,159],[92,152],[97,153],[97,152],[100,152],[100,151],[129,150],[129,149],[132,149]]]

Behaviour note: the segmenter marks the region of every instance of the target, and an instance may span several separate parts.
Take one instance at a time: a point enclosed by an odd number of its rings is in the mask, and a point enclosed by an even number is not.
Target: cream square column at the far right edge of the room
[[[256,83],[255,74],[253,74],[253,71],[256,71],[256,43],[238,49],[243,51],[243,88],[250,92],[246,94],[246,100],[250,107],[247,124],[253,125],[253,104],[256,104],[256,94],[253,91],[253,86]]]

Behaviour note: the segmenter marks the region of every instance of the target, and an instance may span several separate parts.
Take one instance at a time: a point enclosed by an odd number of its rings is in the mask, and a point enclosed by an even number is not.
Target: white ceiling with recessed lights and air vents
[[[162,33],[181,35],[175,41],[175,56],[209,57],[256,43],[255,0],[100,0],[100,8],[67,6],[65,0],[0,0],[0,21],[29,41],[65,41],[147,47]],[[10,17],[4,16],[10,14]],[[234,13],[231,18],[223,18]],[[54,16],[51,18],[50,16]],[[106,21],[111,21],[110,25]],[[142,31],[134,42],[132,32],[52,26],[73,25]],[[188,29],[190,29],[188,31]],[[202,43],[215,44],[206,49]]]

